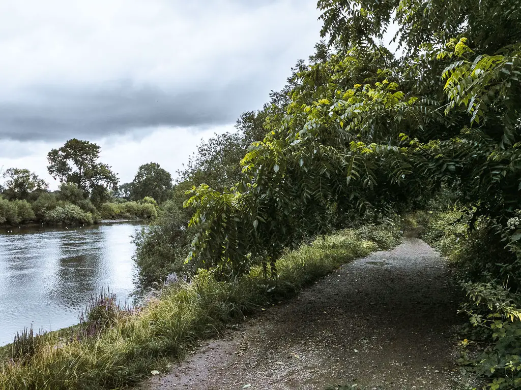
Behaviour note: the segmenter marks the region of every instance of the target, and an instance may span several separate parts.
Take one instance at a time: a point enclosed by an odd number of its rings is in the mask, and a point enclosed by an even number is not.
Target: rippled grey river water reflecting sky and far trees
[[[139,222],[70,228],[0,228],[0,346],[32,325],[78,323],[91,294],[110,288],[120,302],[134,289]]]

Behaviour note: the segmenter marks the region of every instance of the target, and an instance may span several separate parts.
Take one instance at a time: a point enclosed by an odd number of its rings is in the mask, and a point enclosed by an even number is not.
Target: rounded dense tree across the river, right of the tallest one
[[[131,199],[141,200],[151,197],[163,203],[172,189],[172,176],[157,163],[143,164],[135,174],[131,185]]]

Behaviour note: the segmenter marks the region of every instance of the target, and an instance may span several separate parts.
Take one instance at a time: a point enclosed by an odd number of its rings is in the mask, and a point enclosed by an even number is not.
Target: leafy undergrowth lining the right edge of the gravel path
[[[486,218],[468,228],[458,211],[420,214],[424,239],[456,266],[468,296],[461,313],[468,316],[460,363],[490,379],[489,387],[521,386],[521,261],[516,251],[518,220],[505,231]],[[498,237],[499,236],[499,237]],[[501,240],[501,237],[504,240]],[[505,246],[506,244],[506,246]]]

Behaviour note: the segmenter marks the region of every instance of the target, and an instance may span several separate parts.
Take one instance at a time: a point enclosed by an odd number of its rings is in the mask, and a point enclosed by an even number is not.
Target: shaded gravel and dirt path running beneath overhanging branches
[[[443,259],[404,238],[204,343],[143,388],[447,390],[457,301]]]

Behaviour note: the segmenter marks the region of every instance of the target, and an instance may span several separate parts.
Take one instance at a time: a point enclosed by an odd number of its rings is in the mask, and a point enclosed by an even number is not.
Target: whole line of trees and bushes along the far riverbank
[[[172,193],[172,177],[157,163],[141,165],[132,183],[100,162],[101,147],[69,139],[47,154],[47,170],[60,181],[57,191],[35,173],[7,168],[0,185],[0,225],[93,224],[101,219],[157,217],[158,206]]]

